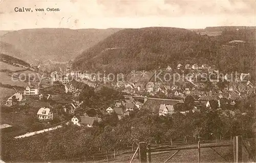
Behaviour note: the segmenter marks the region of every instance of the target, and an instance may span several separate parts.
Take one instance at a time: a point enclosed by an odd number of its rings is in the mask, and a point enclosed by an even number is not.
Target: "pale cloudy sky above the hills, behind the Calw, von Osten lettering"
[[[15,12],[14,8],[33,12]],[[37,8],[45,12],[35,11]],[[60,11],[48,12],[47,8]],[[169,26],[256,26],[256,1],[237,0],[0,0],[0,30],[107,29]]]

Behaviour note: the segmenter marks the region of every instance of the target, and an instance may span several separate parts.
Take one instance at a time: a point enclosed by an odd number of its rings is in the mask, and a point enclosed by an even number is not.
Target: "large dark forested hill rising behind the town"
[[[236,39],[239,39],[241,31],[234,32]],[[223,52],[222,45],[232,41],[233,36],[224,33],[220,37],[207,37],[178,28],[124,29],[84,51],[75,59],[73,67],[80,70],[127,72],[152,70],[167,65],[175,67],[178,63],[208,63],[222,66],[220,68],[224,70],[227,65],[237,64],[236,67],[240,69],[239,57],[246,53],[250,57],[248,62],[252,62],[255,44],[242,46],[243,52],[239,54]],[[237,61],[225,60],[228,59],[226,56],[236,58]],[[225,65],[219,64],[220,57],[222,62],[226,62]]]

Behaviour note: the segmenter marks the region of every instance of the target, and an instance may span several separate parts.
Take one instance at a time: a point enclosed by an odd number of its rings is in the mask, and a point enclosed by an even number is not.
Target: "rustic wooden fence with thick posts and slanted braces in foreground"
[[[251,151],[248,149],[246,144],[244,143],[242,136],[236,136],[233,137],[233,144],[232,142],[227,143],[227,144],[214,144],[214,145],[204,145],[200,144],[200,141],[198,142],[198,145],[190,146],[190,147],[175,147],[175,148],[165,148],[165,149],[158,149],[158,148],[151,148],[150,144],[147,144],[146,142],[140,142],[138,145],[138,148],[136,149],[130,163],[132,163],[133,159],[136,156],[136,153],[138,154],[138,159],[139,162],[141,163],[151,163],[152,158],[151,155],[153,152],[166,152],[166,151],[176,151],[174,154],[172,154],[170,157],[168,157],[165,161],[169,161],[174,157],[179,151],[181,150],[187,150],[187,149],[198,149],[198,162],[201,162],[201,149],[202,148],[211,148],[215,153],[217,153],[219,156],[223,158],[223,156],[216,151],[214,148],[215,147],[232,147],[233,146],[233,158],[234,162],[243,162],[244,160],[244,154],[243,151],[246,152],[249,156],[250,161],[255,161],[255,158],[253,157],[253,154]],[[225,158],[223,158],[225,159]],[[247,158],[248,159],[248,158]]]

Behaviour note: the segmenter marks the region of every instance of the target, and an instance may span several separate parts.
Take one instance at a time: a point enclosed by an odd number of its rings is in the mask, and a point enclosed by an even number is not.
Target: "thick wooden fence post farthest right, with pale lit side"
[[[242,141],[242,136],[236,136],[233,138],[234,162],[242,162]]]

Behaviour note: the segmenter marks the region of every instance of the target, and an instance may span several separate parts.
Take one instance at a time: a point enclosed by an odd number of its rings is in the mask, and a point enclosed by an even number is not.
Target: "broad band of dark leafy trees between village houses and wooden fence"
[[[38,134],[22,140],[2,137],[2,158],[5,161],[52,161],[63,158],[90,158],[98,149],[114,150],[140,141],[169,142],[169,139],[205,140],[230,138],[247,133],[250,137],[252,114],[222,111],[175,113],[159,117],[149,110],[140,110],[118,120],[107,115],[93,128],[67,126],[53,132]]]

